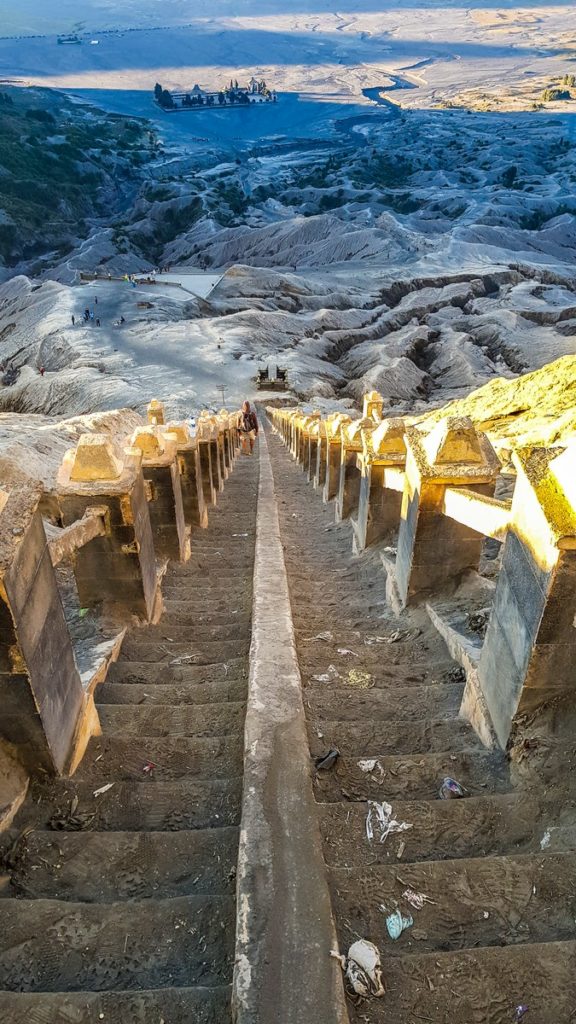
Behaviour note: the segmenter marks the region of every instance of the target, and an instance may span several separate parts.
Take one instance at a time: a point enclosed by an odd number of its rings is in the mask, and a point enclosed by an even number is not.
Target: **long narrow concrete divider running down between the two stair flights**
[[[347,1024],[265,433],[238,860],[236,1024]]]

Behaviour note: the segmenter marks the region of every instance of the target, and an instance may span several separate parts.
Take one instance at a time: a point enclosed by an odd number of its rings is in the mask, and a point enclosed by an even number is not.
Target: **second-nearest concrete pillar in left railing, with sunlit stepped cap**
[[[115,450],[106,434],[85,434],[68,452],[57,475],[65,526],[87,508],[108,508],[109,531],[79,548],[74,573],[85,607],[99,602],[122,615],[155,617],[158,578],[141,453]]]

